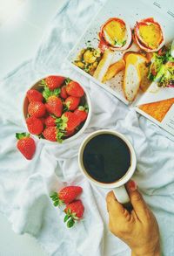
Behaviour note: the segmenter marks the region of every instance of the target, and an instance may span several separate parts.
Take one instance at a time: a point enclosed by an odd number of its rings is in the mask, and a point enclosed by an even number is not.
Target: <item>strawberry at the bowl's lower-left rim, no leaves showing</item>
[[[28,117],[26,119],[28,130],[32,135],[40,135],[43,131],[43,123],[36,117]]]

